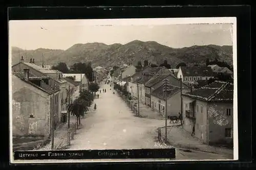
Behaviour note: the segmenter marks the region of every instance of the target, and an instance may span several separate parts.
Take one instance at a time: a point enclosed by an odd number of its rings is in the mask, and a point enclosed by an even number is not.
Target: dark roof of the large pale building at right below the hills
[[[211,67],[208,66],[193,66],[193,67],[181,67],[183,76],[214,76]]]

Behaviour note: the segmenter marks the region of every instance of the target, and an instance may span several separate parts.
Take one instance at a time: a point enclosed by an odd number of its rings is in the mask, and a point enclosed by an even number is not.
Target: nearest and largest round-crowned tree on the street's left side
[[[76,99],[73,103],[68,105],[68,111],[77,118],[77,128],[81,123],[80,116],[82,116],[87,109],[86,101],[81,98]]]

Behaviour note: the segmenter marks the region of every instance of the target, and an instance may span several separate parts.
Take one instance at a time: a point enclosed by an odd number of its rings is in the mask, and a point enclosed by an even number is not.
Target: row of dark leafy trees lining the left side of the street
[[[79,97],[73,103],[68,105],[70,114],[77,118],[77,127],[81,124],[80,117],[83,117],[84,114],[89,111],[89,107],[92,105],[94,96],[98,90],[99,85],[97,83],[91,83],[89,85],[89,90],[80,91]]]

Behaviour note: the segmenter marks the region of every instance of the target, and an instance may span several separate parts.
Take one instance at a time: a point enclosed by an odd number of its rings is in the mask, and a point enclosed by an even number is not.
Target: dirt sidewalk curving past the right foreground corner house
[[[165,134],[165,128],[161,127],[161,131],[163,137]],[[182,126],[167,127],[167,138],[169,143],[177,148],[223,155],[233,155],[233,150],[203,144],[201,140],[191,136],[189,132],[185,131]]]

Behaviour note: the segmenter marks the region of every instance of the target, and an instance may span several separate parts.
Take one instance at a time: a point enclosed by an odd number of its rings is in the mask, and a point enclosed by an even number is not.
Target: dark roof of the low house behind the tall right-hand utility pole
[[[180,88],[170,85],[170,91],[166,92],[166,97],[169,99],[172,95],[180,91]],[[151,95],[155,96],[158,99],[165,100],[165,92],[163,91],[163,85],[154,90]]]

